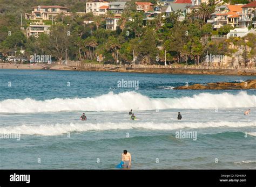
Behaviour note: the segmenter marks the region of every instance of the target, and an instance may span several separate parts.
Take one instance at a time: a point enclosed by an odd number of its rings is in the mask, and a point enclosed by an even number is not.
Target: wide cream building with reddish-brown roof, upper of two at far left
[[[56,17],[59,13],[67,14],[69,8],[64,6],[34,6],[33,11],[30,13],[25,13],[25,19],[41,19],[41,20],[51,20]]]

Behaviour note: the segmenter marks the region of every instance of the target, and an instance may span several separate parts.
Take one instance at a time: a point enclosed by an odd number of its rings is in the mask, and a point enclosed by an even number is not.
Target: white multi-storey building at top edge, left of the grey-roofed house
[[[86,13],[92,12],[95,16],[104,15],[109,8],[109,2],[94,0],[86,3]]]

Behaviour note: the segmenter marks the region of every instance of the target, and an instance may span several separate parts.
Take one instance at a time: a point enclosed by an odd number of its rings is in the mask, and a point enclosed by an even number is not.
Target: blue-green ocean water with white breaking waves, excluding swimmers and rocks
[[[0,69],[0,169],[256,169],[256,90],[173,90],[253,78]]]

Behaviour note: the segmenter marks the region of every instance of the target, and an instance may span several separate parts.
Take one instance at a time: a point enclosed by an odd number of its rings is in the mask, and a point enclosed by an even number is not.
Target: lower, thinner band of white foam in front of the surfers
[[[71,123],[71,124],[49,124],[49,125],[19,125],[0,127],[0,134],[18,132],[20,134],[38,135],[61,135],[68,132],[104,131],[104,130],[127,130],[132,128],[145,128],[148,130],[177,130],[180,128],[218,128],[218,127],[248,127],[256,126],[254,122],[207,122],[207,123],[152,123],[131,121],[127,123]]]

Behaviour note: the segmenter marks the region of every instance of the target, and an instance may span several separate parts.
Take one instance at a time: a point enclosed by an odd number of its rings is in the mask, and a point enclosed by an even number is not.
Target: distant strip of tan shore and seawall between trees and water
[[[122,65],[115,64],[13,64],[0,63],[1,69],[31,69],[31,70],[72,70],[72,71],[111,71],[122,73],[157,73],[157,74],[190,74],[190,75],[256,75],[255,67],[204,67],[204,66],[160,66],[160,65]]]

